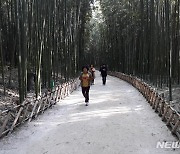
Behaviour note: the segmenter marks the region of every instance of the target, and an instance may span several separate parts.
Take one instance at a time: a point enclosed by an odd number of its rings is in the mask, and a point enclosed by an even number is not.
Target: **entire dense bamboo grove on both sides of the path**
[[[35,93],[68,81],[84,64],[106,63],[156,86],[180,83],[180,0],[1,0],[0,69],[17,68],[20,102],[28,74]]]

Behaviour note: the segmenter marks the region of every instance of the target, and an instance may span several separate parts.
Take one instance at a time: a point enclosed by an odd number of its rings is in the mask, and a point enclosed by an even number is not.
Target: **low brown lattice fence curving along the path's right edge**
[[[164,100],[150,85],[133,77],[120,72],[109,72],[109,75],[120,78],[132,84],[146,98],[152,109],[162,118],[162,121],[170,128],[172,134],[180,140],[180,114],[175,111],[167,101]]]

